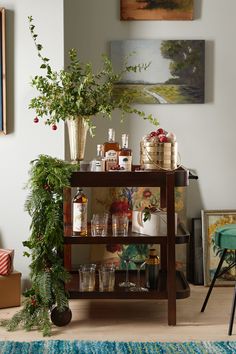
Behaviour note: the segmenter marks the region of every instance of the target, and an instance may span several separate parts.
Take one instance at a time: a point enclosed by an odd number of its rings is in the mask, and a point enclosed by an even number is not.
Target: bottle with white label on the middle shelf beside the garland
[[[73,235],[87,236],[88,198],[79,187],[73,198]]]

